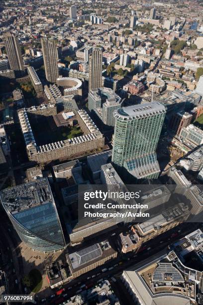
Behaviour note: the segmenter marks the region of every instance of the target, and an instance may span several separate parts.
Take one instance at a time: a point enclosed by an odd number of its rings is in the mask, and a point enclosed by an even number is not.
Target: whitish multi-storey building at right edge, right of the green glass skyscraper
[[[203,131],[193,124],[183,127],[179,137],[181,140],[189,142],[194,148],[203,144]]]

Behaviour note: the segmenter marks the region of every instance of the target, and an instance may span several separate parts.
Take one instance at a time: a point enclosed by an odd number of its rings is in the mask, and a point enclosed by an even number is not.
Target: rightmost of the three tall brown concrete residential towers
[[[89,91],[102,87],[102,48],[93,48],[89,55]]]

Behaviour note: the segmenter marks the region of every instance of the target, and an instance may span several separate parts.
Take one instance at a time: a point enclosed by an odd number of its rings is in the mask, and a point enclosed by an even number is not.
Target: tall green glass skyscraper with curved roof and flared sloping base
[[[165,107],[158,102],[114,112],[112,162],[118,170],[125,168],[137,179],[158,177],[156,148],[165,113]]]

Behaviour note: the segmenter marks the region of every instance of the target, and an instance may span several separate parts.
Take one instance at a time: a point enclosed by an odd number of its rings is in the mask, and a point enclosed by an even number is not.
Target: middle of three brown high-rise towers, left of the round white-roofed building
[[[46,79],[50,83],[56,83],[59,77],[57,45],[53,39],[46,37],[41,38],[41,44]]]

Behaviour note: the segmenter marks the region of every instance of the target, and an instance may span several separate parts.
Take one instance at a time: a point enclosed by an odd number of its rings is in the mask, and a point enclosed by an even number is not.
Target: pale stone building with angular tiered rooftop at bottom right
[[[179,268],[169,262],[167,254],[157,256],[147,264],[130,267],[123,275],[130,291],[133,290],[143,305],[191,304],[190,297],[186,295],[184,276]]]

